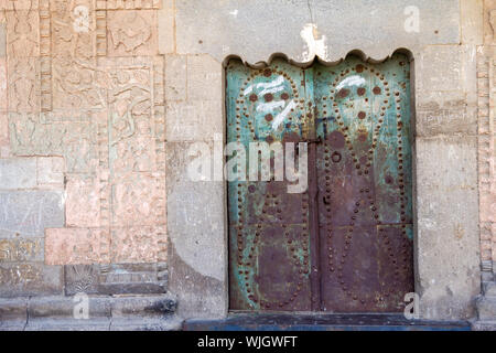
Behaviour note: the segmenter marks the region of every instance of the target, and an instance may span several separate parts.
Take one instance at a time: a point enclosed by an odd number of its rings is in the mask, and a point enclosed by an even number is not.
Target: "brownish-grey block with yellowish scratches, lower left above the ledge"
[[[45,266],[42,263],[0,264],[0,297],[62,293],[61,266]]]

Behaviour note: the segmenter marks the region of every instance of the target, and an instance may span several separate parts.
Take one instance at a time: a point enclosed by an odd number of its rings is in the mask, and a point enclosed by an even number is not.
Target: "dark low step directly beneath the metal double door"
[[[468,321],[407,320],[402,314],[231,313],[223,320],[186,320],[185,331],[471,331]]]

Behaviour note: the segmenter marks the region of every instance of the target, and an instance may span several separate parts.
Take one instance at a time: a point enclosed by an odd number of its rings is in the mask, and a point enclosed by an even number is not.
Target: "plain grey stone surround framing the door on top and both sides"
[[[418,31],[406,29],[411,7],[419,14]],[[165,65],[165,98],[172,99],[166,103],[170,288],[180,297],[180,312],[223,317],[227,311],[223,188],[214,182],[187,185],[176,176],[188,160],[188,143],[204,141],[213,149],[215,133],[222,132],[223,107],[215,99],[223,100],[217,98],[223,95],[217,77],[226,58],[263,65],[282,54],[296,64],[316,56],[332,64],[349,52],[380,61],[406,49],[414,68],[416,291],[421,314],[473,317],[481,290],[476,56],[483,1],[208,0],[175,1],[174,9],[175,26],[159,26],[159,42],[175,34],[174,49],[161,52],[166,63],[186,73],[177,76]],[[214,104],[207,106],[211,98]],[[208,116],[198,114],[198,106],[207,106]],[[181,109],[192,113],[181,116]]]

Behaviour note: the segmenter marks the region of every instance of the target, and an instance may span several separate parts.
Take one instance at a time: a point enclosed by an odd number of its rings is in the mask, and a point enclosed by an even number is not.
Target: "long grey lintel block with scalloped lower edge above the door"
[[[219,62],[233,54],[256,64],[273,53],[296,62],[309,62],[316,54],[336,62],[357,49],[382,60],[399,47],[416,52],[429,44],[460,43],[457,0],[367,1],[360,7],[326,0],[207,0],[175,6],[177,53],[208,53]],[[407,20],[416,13],[409,7],[418,10],[420,26],[407,31]]]

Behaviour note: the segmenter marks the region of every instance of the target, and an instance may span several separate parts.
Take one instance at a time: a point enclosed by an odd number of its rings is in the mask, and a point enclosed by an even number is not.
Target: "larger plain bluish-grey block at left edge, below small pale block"
[[[64,194],[58,191],[0,192],[0,235],[40,237],[44,229],[64,226]]]

